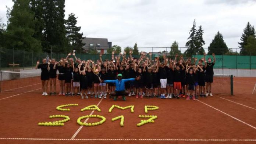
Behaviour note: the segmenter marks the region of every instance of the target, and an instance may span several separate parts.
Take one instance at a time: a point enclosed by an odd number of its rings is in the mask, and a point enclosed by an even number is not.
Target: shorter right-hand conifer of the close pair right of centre
[[[205,50],[203,49],[203,45],[205,45],[205,41],[203,40],[203,33],[202,25],[200,25],[195,36],[195,51],[201,55],[205,53]]]

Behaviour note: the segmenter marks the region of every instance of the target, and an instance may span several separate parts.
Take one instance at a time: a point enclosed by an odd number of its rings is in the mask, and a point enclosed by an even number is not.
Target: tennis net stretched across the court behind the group
[[[41,73],[34,72],[11,72],[0,71],[0,91],[11,92],[42,92]],[[58,74],[57,74],[58,77]],[[57,78],[58,79],[58,78]],[[50,83],[48,83],[49,91]],[[58,80],[56,92],[59,91]],[[233,94],[233,76],[215,74],[213,78],[212,91],[214,94]]]

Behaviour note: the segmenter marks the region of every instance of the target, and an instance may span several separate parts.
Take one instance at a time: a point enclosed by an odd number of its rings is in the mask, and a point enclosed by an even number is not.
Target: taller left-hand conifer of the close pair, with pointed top
[[[190,29],[190,36],[188,37],[188,42],[186,42],[186,47],[188,47],[188,49],[185,51],[184,54],[186,54],[186,56],[191,56],[193,54],[196,53],[195,51],[195,43],[196,43],[196,39],[195,39],[195,36],[196,36],[196,33],[197,33],[197,30],[196,30],[196,20],[194,20],[193,22],[193,26],[192,28]]]

